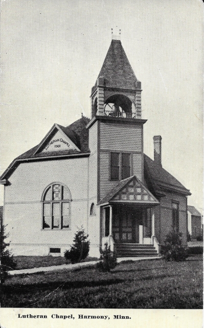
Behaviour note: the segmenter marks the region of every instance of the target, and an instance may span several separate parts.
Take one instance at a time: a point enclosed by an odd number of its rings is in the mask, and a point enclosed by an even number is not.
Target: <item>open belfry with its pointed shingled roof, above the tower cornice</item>
[[[92,88],[92,117],[141,118],[141,82],[135,76],[121,44],[112,36],[96,83]]]

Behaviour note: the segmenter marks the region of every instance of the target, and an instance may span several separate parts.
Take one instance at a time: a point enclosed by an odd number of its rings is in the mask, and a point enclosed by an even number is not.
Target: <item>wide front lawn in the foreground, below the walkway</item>
[[[202,256],[185,262],[120,263],[13,276],[2,290],[3,308],[201,309]]]

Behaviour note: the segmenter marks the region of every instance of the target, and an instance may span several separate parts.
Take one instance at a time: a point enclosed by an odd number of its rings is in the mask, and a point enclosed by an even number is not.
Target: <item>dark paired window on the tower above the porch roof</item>
[[[128,153],[110,153],[110,179],[123,180],[131,175],[131,158]]]

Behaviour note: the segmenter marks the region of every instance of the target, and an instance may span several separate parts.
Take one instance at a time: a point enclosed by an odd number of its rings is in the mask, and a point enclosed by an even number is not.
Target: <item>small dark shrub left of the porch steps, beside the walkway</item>
[[[100,271],[110,272],[110,269],[114,269],[117,265],[116,252],[110,251],[110,246],[105,243],[105,249],[100,249],[100,262],[97,263],[97,268]]]

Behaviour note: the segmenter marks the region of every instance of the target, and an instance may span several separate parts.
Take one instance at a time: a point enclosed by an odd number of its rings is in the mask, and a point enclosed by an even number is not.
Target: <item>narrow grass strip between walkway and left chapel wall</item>
[[[40,267],[51,267],[52,265],[61,265],[69,263],[62,256],[14,256],[17,263],[16,270],[32,269]],[[96,257],[87,257],[84,261],[96,261]]]

